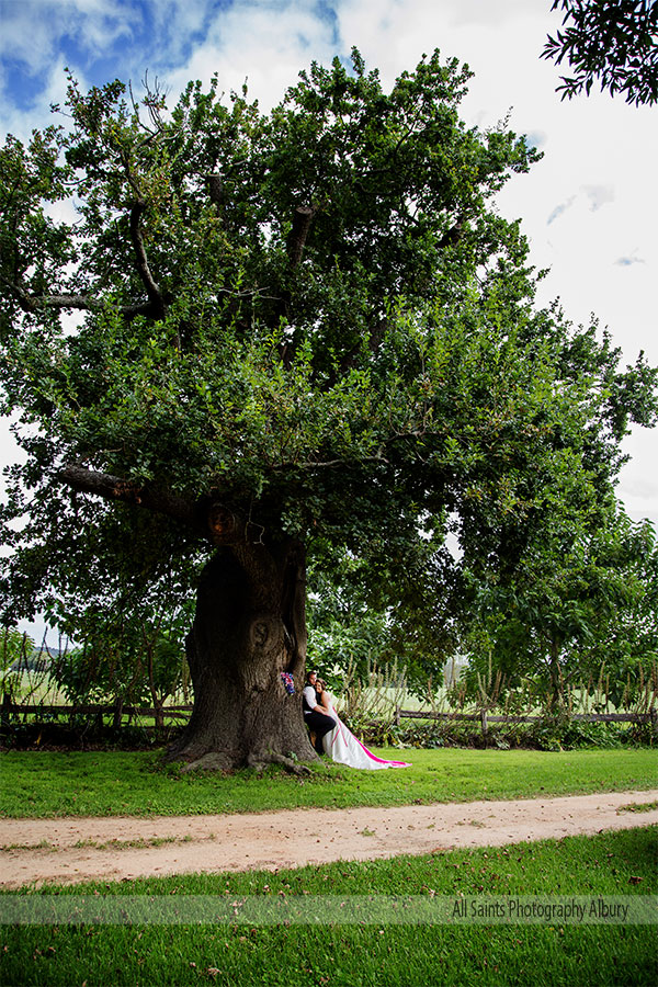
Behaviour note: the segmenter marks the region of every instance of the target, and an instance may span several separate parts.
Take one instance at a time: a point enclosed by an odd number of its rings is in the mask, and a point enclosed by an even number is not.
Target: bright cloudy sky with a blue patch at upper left
[[[529,175],[499,195],[521,217],[532,260],[551,273],[541,300],[568,317],[594,313],[624,359],[658,364],[658,109],[608,93],[561,102],[558,70],[540,58],[560,23],[551,0],[0,0],[0,129],[26,137],[65,94],[65,67],[81,84],[148,71],[175,97],[218,72],[263,107],[311,60],[355,45],[385,84],[439,48],[475,72],[463,103],[469,125],[510,126],[544,151]],[[1,428],[1,426],[0,426]],[[632,462],[619,494],[632,518],[658,521],[658,430],[626,442]],[[4,428],[0,461],[16,455]]]

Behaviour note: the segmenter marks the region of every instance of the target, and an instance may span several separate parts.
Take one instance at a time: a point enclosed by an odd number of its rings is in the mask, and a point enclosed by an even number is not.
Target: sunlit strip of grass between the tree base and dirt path
[[[7,751],[0,755],[0,815],[203,815],[302,806],[347,808],[530,798],[658,785],[647,748],[534,750],[378,750],[411,768],[354,771],[330,763],[299,779],[279,769],[263,775],[181,775],[154,751]]]

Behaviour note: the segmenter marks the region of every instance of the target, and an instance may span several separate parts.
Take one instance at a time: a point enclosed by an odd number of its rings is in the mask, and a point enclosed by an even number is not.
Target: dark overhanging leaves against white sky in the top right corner
[[[554,0],[565,11],[563,26],[548,37],[543,57],[567,60],[576,75],[563,77],[563,99],[589,95],[598,79],[627,103],[658,102],[658,3],[655,0]]]

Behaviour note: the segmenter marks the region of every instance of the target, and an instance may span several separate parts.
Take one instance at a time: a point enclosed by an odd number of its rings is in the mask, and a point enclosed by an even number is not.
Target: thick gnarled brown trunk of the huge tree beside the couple
[[[201,576],[186,639],[194,708],[168,758],[190,768],[276,762],[296,770],[317,757],[302,714],[304,547],[286,536],[264,544],[260,529],[236,526],[219,531],[220,547]],[[295,695],[283,671],[293,674]]]

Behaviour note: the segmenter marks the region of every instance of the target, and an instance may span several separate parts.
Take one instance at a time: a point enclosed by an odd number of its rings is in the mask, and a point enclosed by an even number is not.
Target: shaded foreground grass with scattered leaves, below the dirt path
[[[58,895],[649,895],[656,828],[296,871],[48,888]],[[33,893],[33,892],[27,892]],[[59,926],[0,929],[0,983],[426,987],[655,984],[648,926]]]

